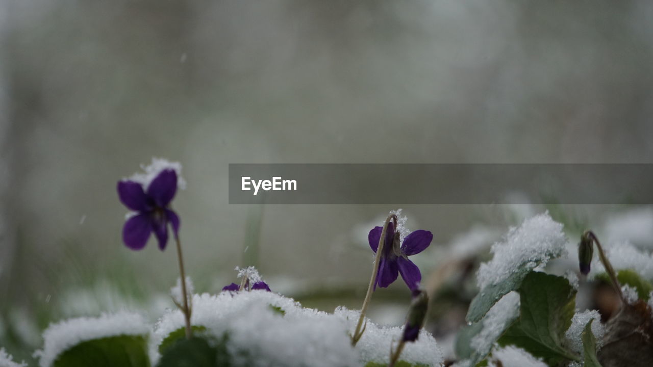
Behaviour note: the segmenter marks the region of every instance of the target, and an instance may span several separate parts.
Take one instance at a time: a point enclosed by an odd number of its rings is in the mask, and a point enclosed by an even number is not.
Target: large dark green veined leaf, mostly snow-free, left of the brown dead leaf
[[[519,317],[499,339],[501,345],[517,345],[548,364],[579,357],[564,347],[571,325],[576,290],[559,276],[530,272],[519,287]]]

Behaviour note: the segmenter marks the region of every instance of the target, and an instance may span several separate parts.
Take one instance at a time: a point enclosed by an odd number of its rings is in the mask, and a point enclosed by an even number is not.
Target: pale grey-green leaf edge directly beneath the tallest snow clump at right
[[[467,321],[475,323],[482,319],[498,300],[511,291],[517,291],[529,272],[530,270],[528,268],[521,267],[505,280],[483,288],[481,292],[471,300],[470,309],[467,311]]]

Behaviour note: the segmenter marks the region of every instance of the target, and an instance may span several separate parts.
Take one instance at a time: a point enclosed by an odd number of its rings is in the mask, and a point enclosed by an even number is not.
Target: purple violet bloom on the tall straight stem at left
[[[146,187],[134,180],[118,182],[120,201],[136,212],[123,227],[123,242],[127,247],[142,249],[154,232],[163,251],[168,242],[168,223],[172,225],[175,238],[178,236],[179,217],[168,208],[176,192],[177,173],[172,168],[161,170]]]

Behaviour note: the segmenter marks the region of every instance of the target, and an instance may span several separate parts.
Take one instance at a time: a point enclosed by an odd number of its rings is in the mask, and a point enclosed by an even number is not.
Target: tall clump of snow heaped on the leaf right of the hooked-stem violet
[[[518,228],[512,227],[503,242],[492,245],[492,260],[479,267],[479,288],[499,283],[518,269],[533,270],[545,266],[550,259],[566,256],[567,238],[562,227],[548,212],[524,220]]]

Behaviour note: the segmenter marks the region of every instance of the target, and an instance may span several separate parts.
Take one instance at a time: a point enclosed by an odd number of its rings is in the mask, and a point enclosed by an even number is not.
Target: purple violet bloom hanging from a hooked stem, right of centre
[[[379,239],[381,238],[381,231],[383,227],[374,227],[368,240],[372,251],[376,252],[379,247]],[[376,277],[376,284],[381,288],[389,286],[397,279],[398,274],[402,274],[402,278],[406,282],[411,291],[418,289],[419,283],[422,281],[422,274],[419,272],[417,265],[408,260],[409,255],[421,253],[431,244],[433,234],[429,231],[419,230],[411,232],[404,238],[401,246],[399,245],[398,232],[394,231],[392,222],[388,223],[388,229],[383,244],[383,253],[381,254],[381,261],[379,264],[379,272]]]

